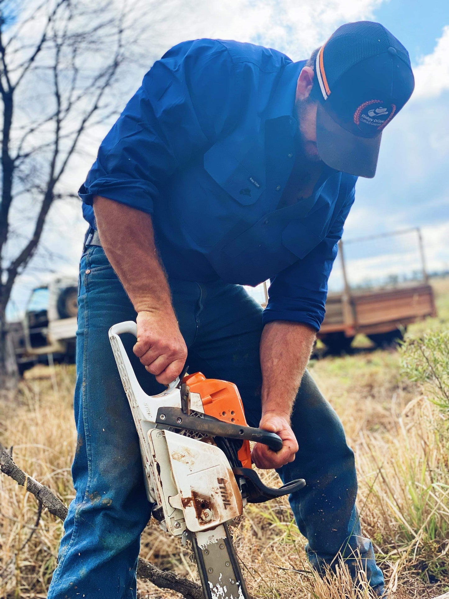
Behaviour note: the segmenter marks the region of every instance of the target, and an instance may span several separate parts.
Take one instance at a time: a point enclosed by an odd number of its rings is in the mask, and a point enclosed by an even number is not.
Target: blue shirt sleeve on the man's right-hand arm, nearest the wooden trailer
[[[305,258],[281,271],[271,281],[263,324],[272,320],[303,322],[319,331],[324,319],[327,280],[337,255],[343,225],[354,203],[354,189],[334,220],[329,233]]]

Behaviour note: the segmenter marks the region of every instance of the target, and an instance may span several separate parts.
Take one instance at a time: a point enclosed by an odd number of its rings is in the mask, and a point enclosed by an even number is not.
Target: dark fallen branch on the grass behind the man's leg
[[[13,459],[7,450],[0,443],[0,470],[2,473],[10,476],[19,485],[25,486],[26,490],[29,491],[40,503],[47,508],[48,512],[60,518],[62,521],[67,516],[67,506],[60,501],[54,495],[50,489],[46,486],[41,485],[31,476],[28,476],[20,470],[20,468],[14,464]],[[150,580],[153,585],[156,585],[162,589],[170,589],[183,595],[185,599],[204,599],[201,585],[196,582],[187,580],[181,576],[178,576],[174,572],[166,572],[156,568],[150,562],[145,559],[139,558],[137,564],[137,576],[141,579]]]

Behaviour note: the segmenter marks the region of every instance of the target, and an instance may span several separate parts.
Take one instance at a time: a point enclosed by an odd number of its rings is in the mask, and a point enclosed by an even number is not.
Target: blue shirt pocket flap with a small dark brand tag
[[[239,204],[254,204],[265,190],[265,185],[247,171],[221,143],[215,144],[205,153],[204,168]]]

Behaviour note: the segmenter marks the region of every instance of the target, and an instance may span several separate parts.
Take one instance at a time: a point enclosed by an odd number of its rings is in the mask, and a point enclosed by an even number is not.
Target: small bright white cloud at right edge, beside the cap
[[[449,25],[443,28],[432,54],[424,56],[413,71],[415,91],[412,99],[438,96],[449,89]]]

